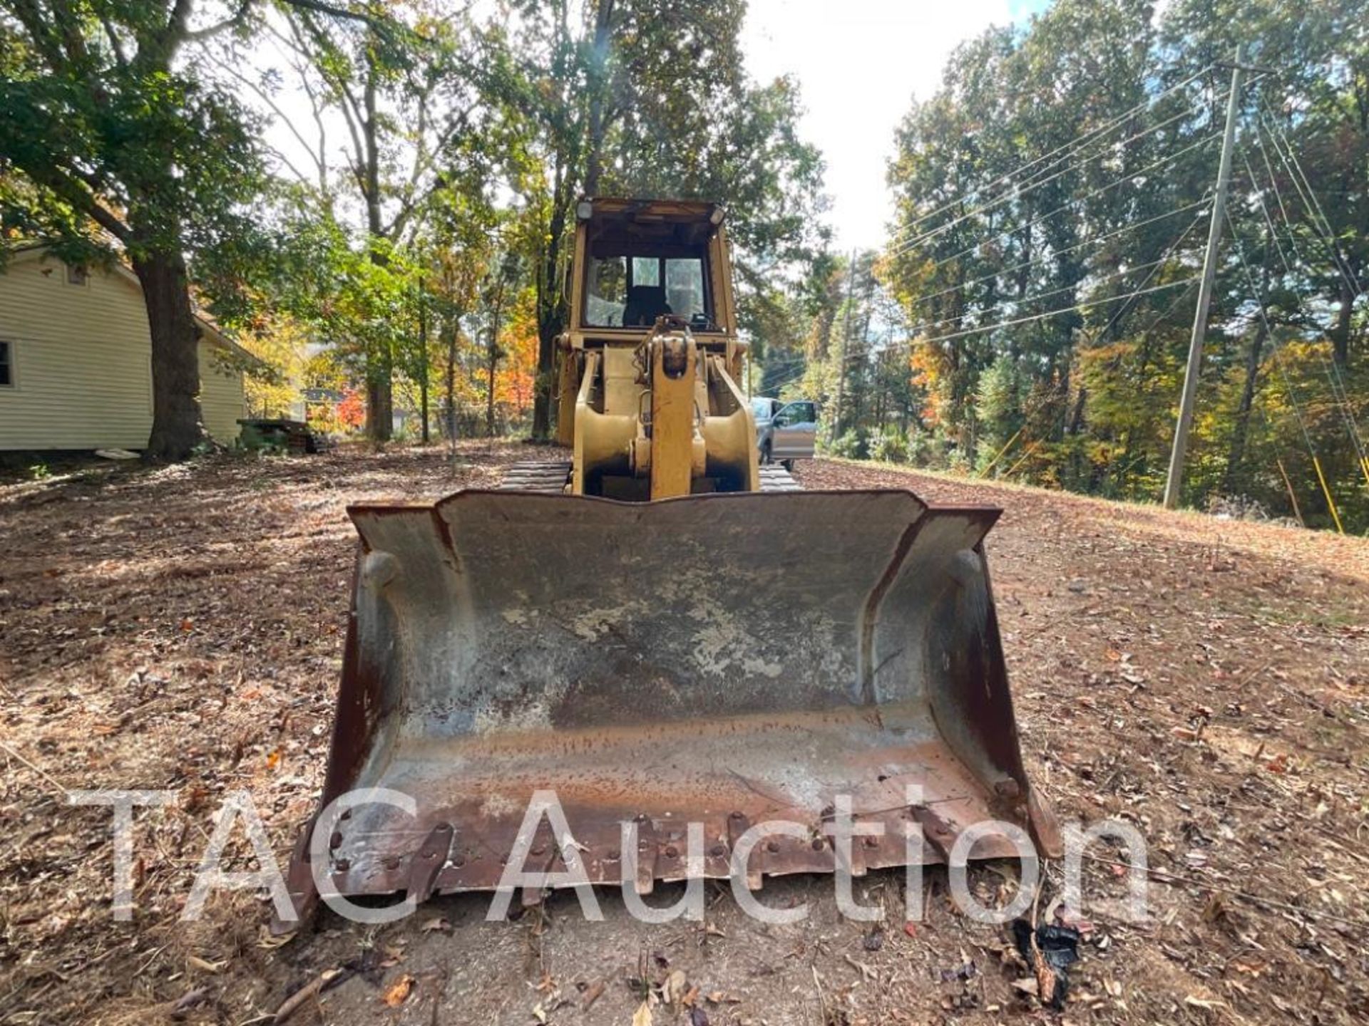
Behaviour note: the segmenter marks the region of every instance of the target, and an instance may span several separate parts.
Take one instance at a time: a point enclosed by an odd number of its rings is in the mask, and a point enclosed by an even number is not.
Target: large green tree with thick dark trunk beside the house
[[[322,0],[320,16],[367,18]],[[260,5],[196,0],[0,3],[0,218],[68,260],[127,260],[152,339],[153,460],[205,439],[194,260],[253,235],[259,124],[196,74],[192,48],[257,25]]]

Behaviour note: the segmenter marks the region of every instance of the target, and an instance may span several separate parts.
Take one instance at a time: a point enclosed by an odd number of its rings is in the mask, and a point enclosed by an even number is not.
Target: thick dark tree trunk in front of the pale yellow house
[[[199,328],[179,253],[134,259],[152,337],[152,434],[145,460],[185,460],[208,435],[200,415]]]

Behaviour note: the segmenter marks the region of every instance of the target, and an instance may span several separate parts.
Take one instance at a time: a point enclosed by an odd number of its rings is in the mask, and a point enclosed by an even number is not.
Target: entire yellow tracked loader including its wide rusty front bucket
[[[988,581],[1001,510],[802,491],[758,466],[721,211],[596,198],[578,213],[556,383],[571,460],[515,466],[496,491],[349,509],[352,620],[307,832],[327,848],[297,848],[297,906],[320,878],[415,900],[496,888],[548,789],[574,851],[539,830],[538,865],[575,859],[589,882],[639,892],[831,873],[842,802],[887,837],[856,845],[857,876],[946,862],[984,821],[975,858],[1016,852],[1002,821],[1058,855]],[[324,817],[371,788],[412,811]],[[775,821],[801,836],[738,866],[746,832]],[[690,824],[702,863],[684,858]]]

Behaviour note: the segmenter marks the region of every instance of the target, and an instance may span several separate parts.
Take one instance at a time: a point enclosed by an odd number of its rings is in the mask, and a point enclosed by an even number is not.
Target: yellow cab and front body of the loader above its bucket
[[[594,200],[582,212],[571,326],[557,345],[570,490],[628,501],[757,491],[720,208]]]

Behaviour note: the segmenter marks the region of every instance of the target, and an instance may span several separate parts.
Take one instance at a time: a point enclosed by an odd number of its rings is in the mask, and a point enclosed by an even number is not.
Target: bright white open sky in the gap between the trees
[[[879,248],[893,216],[884,168],[913,97],[950,52],[990,25],[1025,22],[1047,0],[750,0],[742,47],[760,81],[791,75],[804,138],[823,150],[838,249]]]

